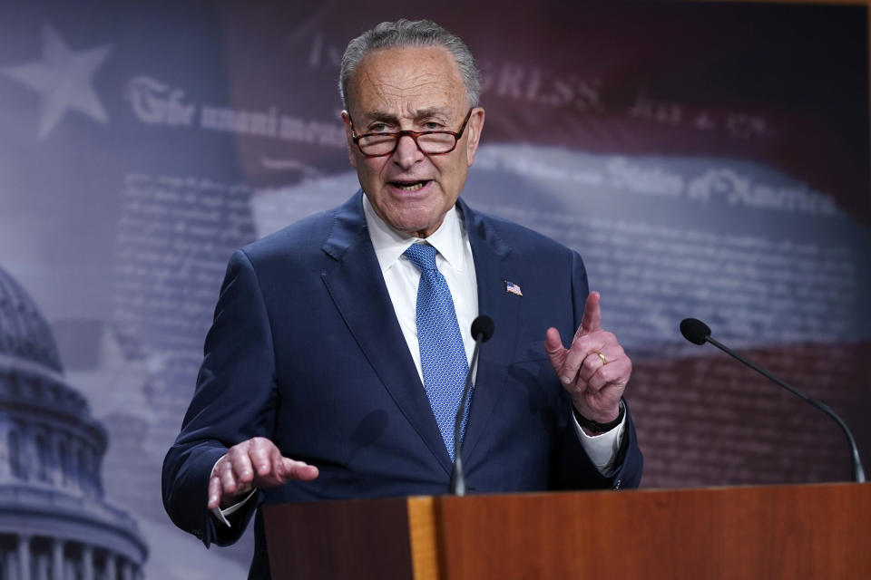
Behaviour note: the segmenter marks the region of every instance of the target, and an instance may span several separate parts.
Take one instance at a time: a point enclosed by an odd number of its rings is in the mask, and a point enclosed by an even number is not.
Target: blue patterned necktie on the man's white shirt
[[[469,362],[465,358],[463,336],[456,322],[454,300],[445,276],[435,267],[438,251],[428,244],[412,244],[404,252],[420,270],[417,286],[417,343],[420,346],[420,365],[424,371],[424,387],[433,408],[438,430],[445,447],[454,460],[454,421],[463,398],[465,375]],[[471,397],[470,397],[471,398]],[[460,440],[469,419],[466,403],[460,425]]]

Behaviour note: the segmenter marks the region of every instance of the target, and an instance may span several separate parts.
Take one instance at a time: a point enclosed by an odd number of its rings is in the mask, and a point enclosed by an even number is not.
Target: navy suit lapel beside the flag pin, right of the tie
[[[463,210],[465,231],[475,259],[478,312],[487,314],[494,321],[493,338],[481,347],[478,358],[475,392],[463,441],[463,457],[468,458],[475,451],[475,445],[502,395],[516,346],[518,313],[523,297],[505,292],[505,280],[522,282],[512,276],[512,260],[508,259],[511,247],[462,200],[458,203]]]

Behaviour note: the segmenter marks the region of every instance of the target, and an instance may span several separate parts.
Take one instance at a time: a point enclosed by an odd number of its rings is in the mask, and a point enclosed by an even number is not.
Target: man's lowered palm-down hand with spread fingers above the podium
[[[277,488],[291,479],[310,481],[318,468],[281,455],[275,443],[254,437],[232,446],[218,459],[209,478],[209,509],[238,503],[251,488]]]

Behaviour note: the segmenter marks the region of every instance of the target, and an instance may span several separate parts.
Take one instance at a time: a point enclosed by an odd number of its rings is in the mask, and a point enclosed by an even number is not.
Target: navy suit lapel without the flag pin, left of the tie
[[[447,473],[452,470],[415,362],[396,320],[363,214],[362,192],[337,209],[324,252],[324,284],[348,329],[396,406]]]

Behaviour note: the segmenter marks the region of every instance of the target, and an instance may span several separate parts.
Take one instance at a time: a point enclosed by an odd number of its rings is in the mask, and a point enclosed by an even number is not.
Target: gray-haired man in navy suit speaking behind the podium
[[[340,85],[361,191],[232,256],[164,461],[164,505],[206,546],[258,513],[251,577],[269,576],[263,502],[449,490],[450,403],[435,382],[450,373],[427,354],[414,244],[435,256],[460,370],[471,321],[494,320],[462,436],[470,492],[641,479],[622,400],[631,361],[601,328],[581,257],[459,199],[484,128],[465,44],[427,21],[379,24],[348,45]]]

